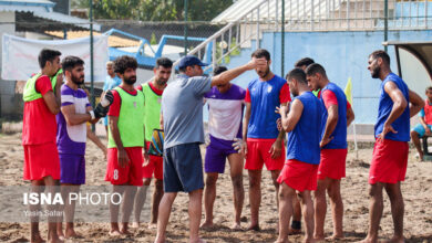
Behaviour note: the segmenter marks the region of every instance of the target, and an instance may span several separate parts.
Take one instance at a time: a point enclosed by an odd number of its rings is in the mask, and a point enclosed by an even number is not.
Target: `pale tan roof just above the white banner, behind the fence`
[[[63,31],[45,31],[45,34],[63,39]],[[94,35],[101,35],[100,32],[93,32]],[[86,38],[90,35],[90,31],[68,31],[66,39],[78,39],[78,38]],[[115,35],[109,36],[109,46],[110,47],[127,47],[127,46],[138,46],[140,42],[134,41],[126,38],[119,38]]]

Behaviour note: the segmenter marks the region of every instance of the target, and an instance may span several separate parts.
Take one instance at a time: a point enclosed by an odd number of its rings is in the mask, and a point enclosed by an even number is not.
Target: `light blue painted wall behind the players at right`
[[[383,32],[289,32],[285,33],[285,73],[288,73],[297,60],[310,56],[322,64],[331,82],[344,88],[348,78],[352,78],[353,108],[357,124],[374,124],[378,110],[380,81],[373,80],[368,71],[368,55],[383,49]],[[391,41],[432,41],[432,30],[390,31]],[[261,47],[270,51],[271,70],[280,75],[281,33],[264,33]],[[227,65],[229,68],[245,64],[255,50],[243,49]],[[391,67],[397,72],[394,47],[389,46]],[[284,74],[285,75],[285,74]],[[234,81],[246,87],[256,77],[255,72],[247,72]],[[409,82],[407,82],[410,86]]]

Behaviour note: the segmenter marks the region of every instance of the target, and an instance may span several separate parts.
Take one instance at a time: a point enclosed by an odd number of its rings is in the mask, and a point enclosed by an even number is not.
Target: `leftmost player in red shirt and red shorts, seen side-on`
[[[55,193],[54,186],[59,184],[60,160],[56,149],[56,120],[60,112],[60,86],[63,75],[59,74],[61,53],[43,49],[39,53],[41,72],[31,77],[24,87],[24,114],[22,120],[22,146],[24,148],[24,180],[31,181],[32,192],[43,192],[47,186],[49,193]],[[47,205],[50,212],[56,211],[56,205]],[[30,205],[30,211],[41,212],[41,205]],[[56,216],[48,216],[49,242],[61,242],[55,230]],[[39,232],[39,216],[30,219],[30,241],[43,242]]]

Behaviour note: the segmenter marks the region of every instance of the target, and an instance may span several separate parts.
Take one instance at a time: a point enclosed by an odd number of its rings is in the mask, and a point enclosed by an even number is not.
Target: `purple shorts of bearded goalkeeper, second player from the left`
[[[84,155],[60,154],[60,183],[85,183]]]

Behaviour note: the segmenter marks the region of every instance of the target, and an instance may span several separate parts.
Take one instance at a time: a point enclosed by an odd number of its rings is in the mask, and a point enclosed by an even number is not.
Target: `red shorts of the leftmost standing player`
[[[43,145],[23,145],[24,180],[42,180],[51,176],[60,180],[60,159],[55,142]]]

